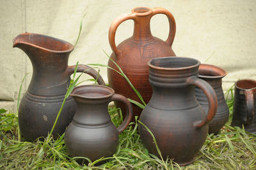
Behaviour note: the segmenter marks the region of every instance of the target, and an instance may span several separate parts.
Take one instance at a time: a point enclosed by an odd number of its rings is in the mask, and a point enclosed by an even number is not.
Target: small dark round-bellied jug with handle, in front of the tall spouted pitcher
[[[131,121],[131,103],[106,86],[79,86],[74,88],[70,96],[77,103],[77,111],[64,137],[69,155],[87,157],[92,161],[111,157],[118,145],[118,134]],[[112,123],[108,113],[111,101],[124,102],[127,106],[125,119],[118,128]]]

